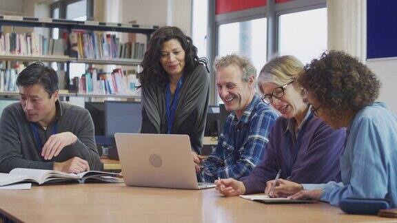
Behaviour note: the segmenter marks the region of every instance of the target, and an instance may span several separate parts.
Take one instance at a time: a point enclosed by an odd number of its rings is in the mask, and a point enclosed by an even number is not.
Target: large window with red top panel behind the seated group
[[[251,59],[260,72],[275,54],[292,54],[307,63],[327,50],[326,0],[193,0],[193,36],[199,32],[199,3],[207,4],[206,23],[214,24],[205,32],[210,63],[236,53]],[[200,41],[203,37],[194,37],[195,44]],[[210,105],[216,105],[214,76],[210,89]]]

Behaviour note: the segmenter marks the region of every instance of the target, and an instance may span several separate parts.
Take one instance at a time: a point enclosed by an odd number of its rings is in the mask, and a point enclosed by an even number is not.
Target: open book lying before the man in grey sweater
[[[61,171],[45,170],[45,169],[12,169],[8,174],[0,175],[0,186],[14,184],[17,182],[36,182],[37,184],[77,181],[83,183],[85,181],[94,182],[123,182],[115,178],[120,176],[119,173],[108,173],[102,171],[86,171],[83,173],[64,173]]]

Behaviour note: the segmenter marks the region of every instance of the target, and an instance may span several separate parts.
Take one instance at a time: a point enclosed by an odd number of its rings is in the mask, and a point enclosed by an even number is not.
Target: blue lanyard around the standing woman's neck
[[[179,91],[181,90],[183,83],[183,75],[179,78],[178,84],[176,85],[174,100],[171,105],[171,89],[170,82],[167,83],[165,89],[165,107],[167,109],[167,134],[171,134],[172,124],[174,123],[176,105],[178,105]]]

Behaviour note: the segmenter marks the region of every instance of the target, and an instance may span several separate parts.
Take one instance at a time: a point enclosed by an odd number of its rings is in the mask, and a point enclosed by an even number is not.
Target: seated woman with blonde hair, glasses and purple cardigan
[[[294,56],[276,57],[261,70],[258,88],[262,99],[282,117],[270,132],[263,161],[250,176],[240,181],[229,178],[215,182],[223,195],[264,191],[273,195],[267,181],[274,180],[279,170],[280,178],[298,183],[340,180],[338,158],[345,142],[345,130],[333,130],[313,114],[303,88],[296,82],[301,72],[303,65]]]

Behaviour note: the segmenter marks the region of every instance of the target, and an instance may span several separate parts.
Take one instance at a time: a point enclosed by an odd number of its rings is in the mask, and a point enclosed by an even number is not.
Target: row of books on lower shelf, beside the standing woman
[[[80,77],[73,78],[78,94],[136,95],[135,70],[115,69],[112,73],[90,68]]]

